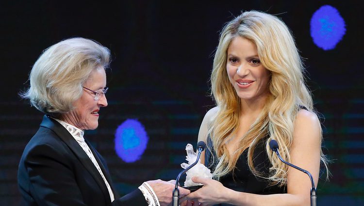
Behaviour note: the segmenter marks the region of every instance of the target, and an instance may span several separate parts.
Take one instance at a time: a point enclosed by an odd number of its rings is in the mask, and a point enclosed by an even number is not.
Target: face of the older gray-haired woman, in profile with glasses
[[[106,73],[103,67],[94,69],[83,84],[90,90],[97,91],[106,86]],[[99,110],[107,106],[106,96],[102,95],[95,100],[93,92],[83,89],[82,96],[74,102],[75,109],[64,115],[61,119],[79,129],[96,129],[99,126]]]

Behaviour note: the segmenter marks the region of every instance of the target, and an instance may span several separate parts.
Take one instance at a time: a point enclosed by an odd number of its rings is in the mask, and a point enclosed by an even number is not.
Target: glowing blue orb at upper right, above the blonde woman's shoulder
[[[321,6],[311,18],[311,37],[319,48],[324,50],[335,48],[345,32],[343,17],[330,5]]]

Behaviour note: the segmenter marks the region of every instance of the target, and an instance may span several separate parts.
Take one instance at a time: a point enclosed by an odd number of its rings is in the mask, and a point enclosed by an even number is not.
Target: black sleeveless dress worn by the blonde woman
[[[259,171],[264,176],[269,176],[269,168],[272,166],[265,151],[265,143],[267,139],[268,138],[265,137],[263,138],[263,140],[257,143],[253,157],[253,163],[256,170]],[[210,136],[207,138],[206,142],[209,148],[211,148],[213,154],[211,154],[211,152],[208,149],[205,150],[205,165],[208,165],[210,169],[214,169],[215,165],[213,165],[213,156],[215,156],[216,159],[216,154],[212,146],[212,141]],[[240,155],[239,159],[236,162],[236,168],[234,172],[220,177],[219,181],[225,187],[235,191],[248,192],[254,194],[287,193],[285,187],[279,187],[278,185],[270,186],[269,185],[270,182],[267,179],[257,177],[251,173],[248,166],[248,149],[244,150],[244,152]],[[218,204],[215,206],[231,206],[231,205]]]

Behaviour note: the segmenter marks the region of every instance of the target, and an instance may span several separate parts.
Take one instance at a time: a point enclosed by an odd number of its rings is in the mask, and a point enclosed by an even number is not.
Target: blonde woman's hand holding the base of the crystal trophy
[[[192,181],[203,184],[203,187],[182,197],[180,202],[187,200],[187,206],[191,205],[190,201],[197,202],[200,206],[212,206],[225,202],[227,188],[220,182],[203,177],[192,177]],[[195,205],[192,204],[192,206]]]

